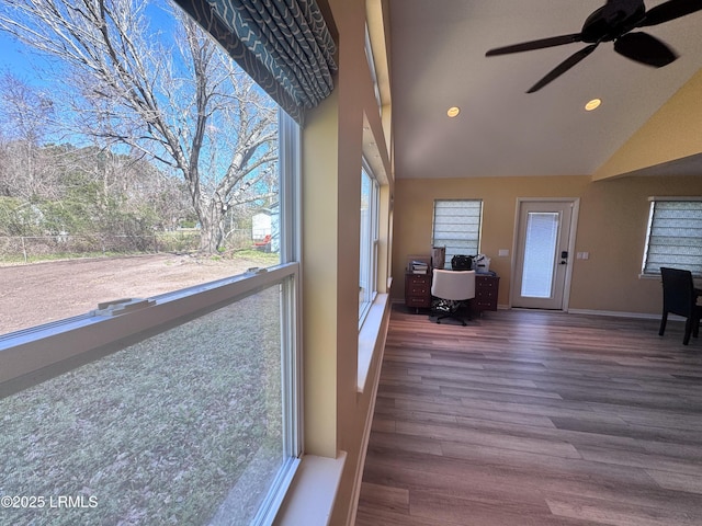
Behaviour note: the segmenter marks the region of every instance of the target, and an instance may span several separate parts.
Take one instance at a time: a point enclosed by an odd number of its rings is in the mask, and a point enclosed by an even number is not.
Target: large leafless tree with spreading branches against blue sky
[[[220,247],[233,206],[270,194],[276,108],[180,11],[158,0],[0,5],[0,30],[52,57],[65,80],[69,134],[126,145],[182,175],[202,251]]]

